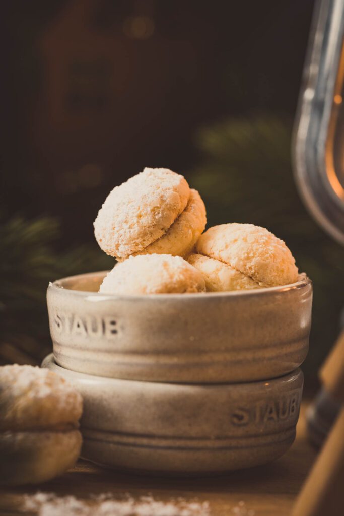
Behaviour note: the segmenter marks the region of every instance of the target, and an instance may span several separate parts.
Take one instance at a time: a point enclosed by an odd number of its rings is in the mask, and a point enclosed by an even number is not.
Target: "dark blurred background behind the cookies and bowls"
[[[50,351],[48,281],[111,268],[92,222],[145,166],[200,190],[208,227],[283,238],[314,282],[312,382],[339,329],[344,250],[290,147],[314,0],[12,0],[2,9],[0,363]]]

